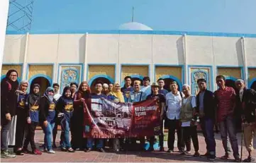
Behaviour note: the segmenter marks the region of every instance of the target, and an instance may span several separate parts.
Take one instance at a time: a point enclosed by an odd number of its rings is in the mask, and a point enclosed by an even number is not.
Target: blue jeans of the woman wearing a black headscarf
[[[60,122],[60,125],[62,129],[61,135],[60,135],[60,138],[62,139],[61,146],[69,148],[71,147],[70,141],[69,141],[70,122],[67,121],[66,119],[62,119],[62,121]]]

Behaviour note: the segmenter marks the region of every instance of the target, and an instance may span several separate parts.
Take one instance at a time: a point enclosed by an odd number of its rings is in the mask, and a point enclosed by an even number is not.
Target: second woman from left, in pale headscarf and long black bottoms
[[[16,123],[16,136],[15,136],[15,149],[14,149],[14,151],[16,152],[16,155],[24,155],[22,146],[23,146],[23,138],[24,138],[26,121],[28,118],[28,110],[26,107],[27,97],[28,97],[27,90],[28,90],[28,81],[22,80],[17,90],[18,104],[16,109],[17,123]]]

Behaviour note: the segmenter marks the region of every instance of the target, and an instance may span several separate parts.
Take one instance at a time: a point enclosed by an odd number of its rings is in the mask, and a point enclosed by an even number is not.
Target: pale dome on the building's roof
[[[153,30],[147,25],[143,25],[142,23],[130,22],[124,23],[119,26],[119,30]]]

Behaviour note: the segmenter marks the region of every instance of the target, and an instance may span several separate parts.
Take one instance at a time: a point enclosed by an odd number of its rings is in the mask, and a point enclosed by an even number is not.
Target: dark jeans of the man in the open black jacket
[[[204,140],[206,142],[206,150],[210,155],[216,155],[216,142],[214,138],[214,122],[213,119],[203,118],[201,119],[201,129],[204,134]]]

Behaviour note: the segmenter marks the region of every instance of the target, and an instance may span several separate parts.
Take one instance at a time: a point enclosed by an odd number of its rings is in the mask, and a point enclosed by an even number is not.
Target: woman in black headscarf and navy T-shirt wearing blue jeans
[[[69,126],[70,119],[73,114],[73,99],[71,95],[71,88],[69,86],[65,87],[62,93],[62,97],[57,102],[57,110],[60,111],[60,114],[63,114],[63,119],[60,122],[62,132],[60,137],[62,138],[62,151],[74,152],[69,142]]]

